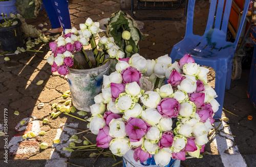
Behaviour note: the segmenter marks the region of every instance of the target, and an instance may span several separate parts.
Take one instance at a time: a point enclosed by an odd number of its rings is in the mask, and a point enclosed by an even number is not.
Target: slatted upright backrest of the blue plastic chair
[[[194,20],[194,8],[196,0],[188,0],[187,9],[187,24],[186,24],[186,37],[193,37],[193,20]],[[205,29],[204,36],[212,36],[215,41],[226,41],[227,25],[229,14],[231,10],[232,0],[211,0],[210,9],[208,15],[208,21]],[[250,0],[245,0],[244,12],[241,18],[240,26],[237,31],[236,41],[234,41],[234,47],[237,46],[238,40],[241,34],[241,30],[244,24],[246,13],[249,7]]]

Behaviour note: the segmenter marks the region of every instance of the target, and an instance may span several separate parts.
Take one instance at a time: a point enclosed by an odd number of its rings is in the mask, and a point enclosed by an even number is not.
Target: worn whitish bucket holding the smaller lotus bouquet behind
[[[109,75],[110,61],[92,69],[69,69],[69,81],[72,103],[78,110],[91,112],[94,97],[101,92],[103,75]]]

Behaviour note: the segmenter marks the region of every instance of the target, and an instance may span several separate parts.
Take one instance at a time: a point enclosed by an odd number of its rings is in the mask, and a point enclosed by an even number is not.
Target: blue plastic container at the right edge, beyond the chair
[[[253,57],[251,61],[250,77],[248,81],[247,96],[256,108],[256,26],[251,28],[251,39],[254,45]]]

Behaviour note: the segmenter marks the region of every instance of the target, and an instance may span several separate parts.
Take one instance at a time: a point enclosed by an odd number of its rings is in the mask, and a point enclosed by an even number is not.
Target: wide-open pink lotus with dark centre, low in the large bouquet
[[[126,133],[131,142],[138,142],[150,130],[151,125],[139,118],[131,117],[126,123]]]

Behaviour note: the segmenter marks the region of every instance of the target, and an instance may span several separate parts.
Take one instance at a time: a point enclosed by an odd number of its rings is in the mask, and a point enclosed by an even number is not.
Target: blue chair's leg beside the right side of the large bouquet
[[[215,73],[215,92],[218,95],[218,97],[216,97],[216,100],[219,102],[220,106],[218,111],[215,113],[214,119],[220,119],[222,115],[222,108],[225,95],[227,63],[219,64],[218,69],[215,69]]]

